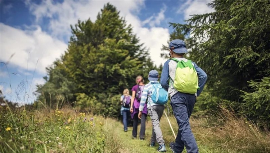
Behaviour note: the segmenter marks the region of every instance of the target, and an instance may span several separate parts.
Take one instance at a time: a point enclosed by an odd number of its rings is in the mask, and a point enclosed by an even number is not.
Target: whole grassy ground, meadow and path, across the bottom
[[[124,132],[123,124],[112,118],[80,113],[72,108],[61,110],[0,106],[0,152],[156,152],[158,145],[149,147],[152,124],[146,123],[145,140],[131,139],[132,127]],[[191,118],[191,128],[200,153],[266,153],[270,152],[270,134],[255,124],[237,118],[233,112],[221,110],[218,118]],[[169,117],[174,132],[178,125]],[[165,116],[161,130],[169,150],[174,140]],[[140,126],[138,127],[139,133]],[[186,151],[183,151],[186,153]]]

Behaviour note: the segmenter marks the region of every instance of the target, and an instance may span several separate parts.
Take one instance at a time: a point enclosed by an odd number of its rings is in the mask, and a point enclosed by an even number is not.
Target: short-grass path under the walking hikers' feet
[[[111,132],[114,132],[114,135],[116,136],[115,139],[117,139],[119,143],[121,144],[122,149],[119,150],[120,153],[134,153],[134,152],[156,153],[157,152],[158,144],[156,144],[155,147],[150,147],[152,124],[151,124],[150,118],[147,118],[147,119],[148,119],[148,123],[146,123],[145,140],[132,139],[132,127],[128,127],[128,132],[124,132],[123,124],[121,122],[116,121],[116,123],[114,123],[113,131]],[[174,123],[173,118],[171,118],[170,120],[177,134],[177,124]],[[139,130],[140,130],[140,125],[138,127],[138,133],[140,132]],[[172,153],[172,151],[169,148],[169,142],[174,141],[174,137],[165,116],[161,119],[161,130],[163,132],[167,152]],[[196,137],[196,133],[194,133],[194,135]],[[202,141],[197,140],[197,144],[198,144],[200,153],[238,153],[236,151],[227,151],[227,150],[217,148],[215,144],[211,142],[202,142]],[[186,153],[186,150],[184,150],[183,153]]]

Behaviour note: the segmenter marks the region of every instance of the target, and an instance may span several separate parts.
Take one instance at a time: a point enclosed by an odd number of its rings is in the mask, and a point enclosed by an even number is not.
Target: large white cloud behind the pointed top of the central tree
[[[164,12],[166,6],[160,9],[157,16],[153,16],[151,22],[151,28],[145,28],[143,21],[140,21],[136,13],[139,13],[140,9],[145,7],[143,0],[130,0],[130,1],[64,1],[63,3],[53,4],[51,1],[43,1],[41,5],[34,3],[28,3],[29,8],[36,21],[41,22],[43,17],[50,18],[49,29],[53,36],[59,39],[69,37],[70,25],[74,25],[78,22],[78,19],[84,21],[89,17],[91,21],[96,20],[97,13],[103,6],[110,2],[119,11],[120,16],[123,16],[128,24],[133,26],[133,31],[140,38],[141,43],[144,43],[146,48],[149,48],[151,59],[156,65],[164,63],[164,60],[160,58],[162,44],[166,44],[169,39],[169,30],[167,28],[155,27],[160,25],[160,22],[164,20]],[[54,16],[57,16],[56,18]],[[151,19],[152,20],[152,19]]]

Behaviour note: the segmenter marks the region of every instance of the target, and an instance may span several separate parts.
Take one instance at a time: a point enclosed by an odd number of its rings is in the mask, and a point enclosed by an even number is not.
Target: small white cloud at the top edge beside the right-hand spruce
[[[178,13],[184,13],[185,20],[187,20],[191,15],[214,12],[213,8],[207,6],[211,1],[212,0],[187,0],[184,4],[181,4]]]

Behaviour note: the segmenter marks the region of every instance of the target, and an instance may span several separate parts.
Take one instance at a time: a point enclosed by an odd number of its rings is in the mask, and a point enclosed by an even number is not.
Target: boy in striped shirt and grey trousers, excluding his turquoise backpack
[[[160,84],[158,79],[159,79],[158,72],[156,70],[151,70],[148,74],[148,80],[150,82],[146,84],[145,87],[143,88],[138,118],[141,119],[143,107],[147,100],[147,110],[153,124],[150,146],[151,147],[155,146],[155,141],[157,141],[157,143],[159,144],[159,148],[157,151],[166,152],[167,150],[165,148],[164,139],[163,139],[162,132],[160,129],[160,118],[163,115],[163,111],[165,107],[164,105],[154,103],[150,96],[152,91],[155,90],[154,84]]]

